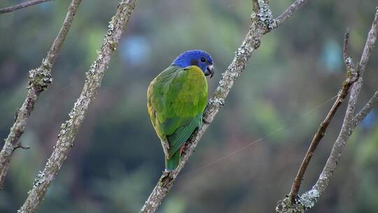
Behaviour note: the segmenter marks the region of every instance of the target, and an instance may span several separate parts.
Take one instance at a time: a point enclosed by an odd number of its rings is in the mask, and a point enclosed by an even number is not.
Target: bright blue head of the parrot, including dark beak
[[[205,76],[209,76],[210,78],[214,75],[214,65],[213,59],[206,53],[204,50],[188,50],[186,52],[181,53],[172,65],[176,67],[189,67],[189,66],[197,66],[202,69]]]

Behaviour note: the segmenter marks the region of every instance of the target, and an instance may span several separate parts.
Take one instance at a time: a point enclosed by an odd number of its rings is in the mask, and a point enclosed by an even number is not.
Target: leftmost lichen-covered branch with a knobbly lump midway
[[[55,41],[52,43],[46,57],[42,60],[41,66],[29,71],[27,97],[25,98],[22,107],[17,111],[15,123],[13,123],[12,128],[10,128],[9,135],[5,139],[3,149],[0,152],[0,189],[3,186],[13,151],[19,147],[22,147],[22,145],[18,144],[21,144],[20,137],[22,133],[24,133],[31,111],[34,109],[34,104],[36,103],[39,95],[41,95],[41,92],[43,92],[43,90],[45,90],[48,85],[52,83],[52,66],[55,63],[57,54],[59,53],[64,40],[66,39],[80,2],[81,0],[71,1],[66,13],[66,18],[64,18],[63,25],[60,28]]]

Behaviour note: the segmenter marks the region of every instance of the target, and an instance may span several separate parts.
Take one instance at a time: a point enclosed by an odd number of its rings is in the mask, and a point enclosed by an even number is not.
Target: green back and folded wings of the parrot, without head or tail
[[[148,113],[158,136],[168,143],[167,158],[202,125],[206,104],[207,81],[199,67],[170,66],[151,82]]]

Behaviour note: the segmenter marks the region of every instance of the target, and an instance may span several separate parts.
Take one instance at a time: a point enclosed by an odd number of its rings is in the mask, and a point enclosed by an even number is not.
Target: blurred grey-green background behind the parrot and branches
[[[271,0],[274,15],[291,2]],[[1,1],[0,6],[16,3]],[[54,82],[22,136],[31,149],[13,156],[0,191],[0,212],[15,212],[43,169],[117,4],[82,2],[53,67]],[[25,98],[27,71],[41,64],[68,5],[57,0],[0,16],[0,138],[8,135]],[[375,6],[374,0],[309,1],[264,36],[159,212],[274,212],[332,104],[326,101],[337,95],[344,79],[344,29],[351,27],[351,54],[358,61]],[[211,94],[246,34],[251,10],[250,0],[137,1],[102,88],[39,212],[139,211],[164,169],[146,112],[148,83],[176,55],[199,48],[211,53],[216,65]],[[377,71],[375,48],[358,107],[378,89]],[[302,191],[321,172],[344,109],[345,104],[316,150]],[[353,132],[330,186],[309,212],[377,212],[377,116],[376,107]]]

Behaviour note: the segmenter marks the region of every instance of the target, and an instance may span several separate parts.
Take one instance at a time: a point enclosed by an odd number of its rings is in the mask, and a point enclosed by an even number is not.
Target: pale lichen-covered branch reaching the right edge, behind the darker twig
[[[346,142],[351,136],[356,125],[353,124],[353,118],[355,118],[355,109],[360,94],[360,89],[363,85],[363,74],[366,69],[367,62],[369,61],[370,53],[374,47],[374,43],[377,40],[378,36],[378,8],[375,12],[374,21],[370,29],[369,34],[367,35],[367,40],[365,43],[365,48],[358,64],[357,72],[359,74],[358,81],[353,84],[351,88],[351,95],[349,97],[348,106],[346,107],[346,113],[344,116],[344,121],[342,123],[342,128],[339,132],[339,135],[335,141],[335,144],[332,146],[330,156],[328,157],[327,163],[323,167],[323,171],[318,177],[316,184],[312,186],[311,190],[300,195],[300,198],[291,202],[290,196],[280,200],[276,207],[276,212],[279,213],[295,213],[295,212],[304,212],[311,207],[314,207],[318,198],[324,193],[325,189],[328,187],[330,179],[337,168],[337,164],[342,155],[342,151],[346,146]],[[365,108],[365,107],[364,107]],[[358,119],[362,119],[366,114],[360,114]]]

